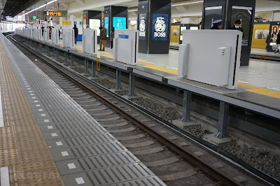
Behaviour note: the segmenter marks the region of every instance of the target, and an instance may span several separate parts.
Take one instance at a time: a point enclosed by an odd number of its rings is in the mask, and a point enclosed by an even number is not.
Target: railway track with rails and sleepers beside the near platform
[[[106,88],[22,43],[15,45],[167,185],[267,185]]]

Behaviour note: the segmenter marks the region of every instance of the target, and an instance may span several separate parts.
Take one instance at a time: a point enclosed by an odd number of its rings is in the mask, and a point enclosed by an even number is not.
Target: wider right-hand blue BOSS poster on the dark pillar
[[[153,13],[153,41],[167,41],[168,37],[168,14]]]

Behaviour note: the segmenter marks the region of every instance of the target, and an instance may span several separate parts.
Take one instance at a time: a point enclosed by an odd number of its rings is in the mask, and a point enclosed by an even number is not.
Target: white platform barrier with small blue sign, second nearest
[[[125,64],[138,64],[139,34],[136,29],[116,29],[113,39],[113,57]]]

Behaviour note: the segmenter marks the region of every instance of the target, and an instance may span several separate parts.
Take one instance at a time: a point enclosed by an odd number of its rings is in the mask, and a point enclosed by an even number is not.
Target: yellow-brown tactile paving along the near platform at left
[[[63,185],[1,41],[0,80],[0,166],[9,166],[11,185]]]

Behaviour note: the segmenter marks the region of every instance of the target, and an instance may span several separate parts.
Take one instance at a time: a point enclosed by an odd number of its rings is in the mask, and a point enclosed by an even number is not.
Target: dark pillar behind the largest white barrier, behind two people
[[[241,66],[249,64],[254,18],[255,0],[204,0],[203,3],[202,29],[211,29],[215,20],[223,20],[222,29],[235,29],[235,22],[240,20]]]

